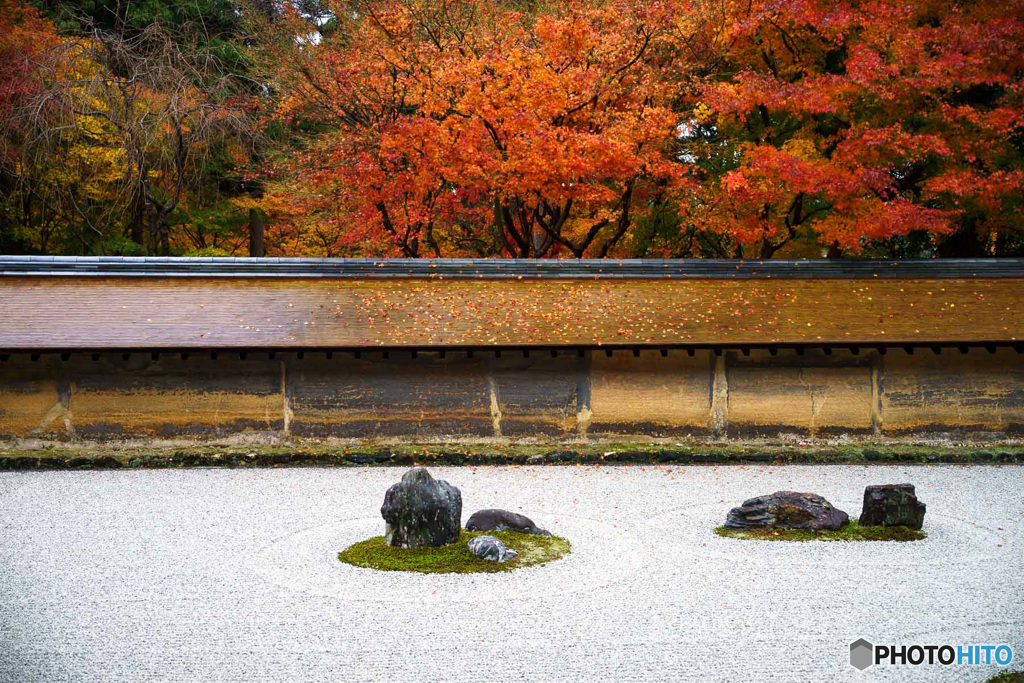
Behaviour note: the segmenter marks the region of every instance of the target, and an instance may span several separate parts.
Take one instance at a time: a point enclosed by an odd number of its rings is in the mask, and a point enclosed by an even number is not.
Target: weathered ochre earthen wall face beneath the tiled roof
[[[0,438],[1024,431],[1012,348],[0,356]]]

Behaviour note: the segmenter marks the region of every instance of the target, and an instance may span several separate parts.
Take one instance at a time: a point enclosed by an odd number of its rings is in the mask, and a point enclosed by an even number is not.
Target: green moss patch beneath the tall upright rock
[[[466,547],[474,536],[493,536],[519,555],[508,562],[482,560]],[[463,529],[458,543],[442,548],[391,548],[384,544],[384,537],[376,536],[349,546],[338,553],[338,559],[346,564],[381,571],[495,573],[557,560],[566,555],[570,548],[568,541],[557,536],[532,536],[516,531],[474,532]]]

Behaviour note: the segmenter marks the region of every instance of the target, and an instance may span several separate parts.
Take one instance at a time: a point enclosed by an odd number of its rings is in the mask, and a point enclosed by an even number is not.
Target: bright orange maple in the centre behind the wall
[[[278,116],[326,128],[290,160],[307,188],[286,191],[344,226],[335,249],[605,256],[638,206],[687,185],[673,3],[358,4],[316,44],[279,23],[272,51]]]

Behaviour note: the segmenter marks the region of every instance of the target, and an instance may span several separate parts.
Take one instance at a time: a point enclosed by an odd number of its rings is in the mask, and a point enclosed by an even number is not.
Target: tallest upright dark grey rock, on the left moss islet
[[[395,548],[438,548],[459,540],[462,493],[422,467],[406,472],[384,496],[384,540]]]

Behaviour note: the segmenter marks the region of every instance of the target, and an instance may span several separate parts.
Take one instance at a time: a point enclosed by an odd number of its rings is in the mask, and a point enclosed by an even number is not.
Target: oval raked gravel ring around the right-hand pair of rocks
[[[859,502],[837,501],[836,507],[847,512],[860,509]],[[657,544],[660,553],[671,553],[672,562],[686,562],[694,555],[728,558],[731,561],[764,561],[816,564],[970,564],[1005,558],[1010,549],[1006,535],[976,525],[974,522],[929,510],[925,515],[928,538],[922,541],[782,542],[724,539],[714,532],[725,522],[730,509],[725,503],[694,503],[674,508],[648,520],[639,530],[643,539]],[[679,541],[666,547],[662,539]],[[690,542],[687,543],[686,540]],[[752,553],[752,545],[758,548]]]

